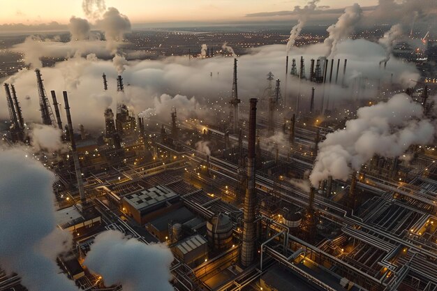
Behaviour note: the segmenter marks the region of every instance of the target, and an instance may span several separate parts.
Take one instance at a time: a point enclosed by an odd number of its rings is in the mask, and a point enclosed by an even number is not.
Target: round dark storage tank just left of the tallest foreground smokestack
[[[214,250],[232,246],[232,221],[227,214],[218,214],[207,223],[208,244]]]

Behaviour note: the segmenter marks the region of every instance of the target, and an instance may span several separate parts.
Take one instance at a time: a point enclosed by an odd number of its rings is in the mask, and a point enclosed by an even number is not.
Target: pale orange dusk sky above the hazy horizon
[[[361,6],[373,6],[378,0],[320,0],[318,6],[343,8],[355,2]],[[307,0],[106,0],[107,7],[119,9],[133,24],[269,20],[272,17],[246,15],[293,10],[295,6],[304,6],[306,3]],[[0,24],[31,25],[52,21],[66,24],[72,15],[84,17],[82,0],[2,0]]]

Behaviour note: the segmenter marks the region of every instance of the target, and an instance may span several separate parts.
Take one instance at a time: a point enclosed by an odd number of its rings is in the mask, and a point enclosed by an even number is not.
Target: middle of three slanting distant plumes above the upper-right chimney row
[[[337,53],[337,45],[341,40],[348,38],[362,17],[362,8],[355,3],[353,6],[346,7],[344,13],[339,17],[336,24],[332,24],[327,28],[329,36],[325,39],[325,45],[329,48],[326,57],[335,56]]]

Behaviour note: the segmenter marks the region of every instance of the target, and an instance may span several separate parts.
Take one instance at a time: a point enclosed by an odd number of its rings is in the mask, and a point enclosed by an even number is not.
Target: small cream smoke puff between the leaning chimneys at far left
[[[30,128],[29,137],[36,151],[47,153],[68,151],[68,146],[61,140],[62,131],[59,128],[43,124],[31,124]]]

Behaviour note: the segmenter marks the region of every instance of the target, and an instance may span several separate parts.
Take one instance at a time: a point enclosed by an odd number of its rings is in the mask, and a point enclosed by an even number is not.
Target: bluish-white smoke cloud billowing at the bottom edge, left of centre
[[[164,244],[144,244],[116,230],[98,234],[84,264],[103,276],[105,285],[121,283],[126,291],[174,291],[170,284],[173,255]]]

